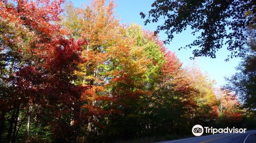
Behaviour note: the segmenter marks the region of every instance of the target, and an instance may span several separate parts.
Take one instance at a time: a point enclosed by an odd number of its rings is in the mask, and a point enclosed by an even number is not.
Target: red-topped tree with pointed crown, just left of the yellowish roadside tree
[[[191,114],[197,108],[197,89],[191,84],[175,53],[161,46],[165,62],[160,79],[152,91],[150,113],[152,134],[186,134],[191,126]],[[180,130],[182,129],[182,131]]]

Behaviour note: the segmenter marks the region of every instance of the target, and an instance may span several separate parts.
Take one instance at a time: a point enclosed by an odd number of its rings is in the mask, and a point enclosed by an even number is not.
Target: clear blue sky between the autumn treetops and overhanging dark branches
[[[73,0],[72,2],[77,7],[81,7],[81,4],[90,4],[88,0]],[[144,19],[141,19],[139,15],[140,12],[147,13],[151,9],[151,4],[153,2],[154,0],[115,0],[115,3],[117,4],[116,15],[120,18],[121,23],[137,23],[144,29],[154,31],[156,30],[157,25],[161,23],[150,23],[149,25],[144,26]],[[216,80],[216,86],[225,84],[224,77],[231,76],[236,72],[235,67],[239,64],[241,59],[233,58],[225,62],[224,60],[230,52],[226,50],[226,46],[224,45],[223,48],[216,53],[217,58],[215,59],[198,57],[195,60],[190,60],[189,57],[193,56],[193,49],[181,49],[180,51],[178,49],[195,40],[196,37],[191,35],[191,32],[190,29],[187,29],[180,34],[175,35],[173,41],[165,46],[169,51],[176,53],[184,66],[189,66],[190,64],[195,63],[203,73],[206,72],[210,75],[211,79]],[[164,32],[160,32],[159,37],[164,40],[166,35]]]

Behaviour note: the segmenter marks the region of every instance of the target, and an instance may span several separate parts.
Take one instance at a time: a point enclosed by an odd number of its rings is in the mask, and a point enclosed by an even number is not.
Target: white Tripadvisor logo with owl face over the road
[[[238,128],[212,128],[212,127],[202,127],[201,125],[195,125],[193,128],[192,128],[192,133],[195,135],[195,136],[201,136],[203,133],[211,133],[211,134],[216,134],[216,133],[245,133],[246,131],[246,128],[242,129],[238,129]]]

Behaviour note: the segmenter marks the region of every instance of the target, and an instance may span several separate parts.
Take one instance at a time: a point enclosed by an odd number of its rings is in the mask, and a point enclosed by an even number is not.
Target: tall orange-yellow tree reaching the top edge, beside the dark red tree
[[[109,63],[109,48],[115,46],[121,39],[122,27],[114,16],[114,2],[106,6],[104,0],[94,0],[91,6],[76,8],[72,3],[65,6],[62,25],[69,29],[71,37],[82,38],[89,44],[83,47],[82,60],[87,61],[78,65],[78,77],[75,84],[88,87],[81,96],[81,122],[88,125],[88,138],[97,134],[95,128],[103,114],[104,103],[111,102],[105,90],[106,65]]]

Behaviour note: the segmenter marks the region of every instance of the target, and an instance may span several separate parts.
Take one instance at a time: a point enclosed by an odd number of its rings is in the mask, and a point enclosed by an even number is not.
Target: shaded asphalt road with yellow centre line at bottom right
[[[161,143],[256,143],[256,130],[246,131],[246,133],[224,133],[190,137],[177,140],[162,141]],[[245,140],[246,139],[246,140]]]

